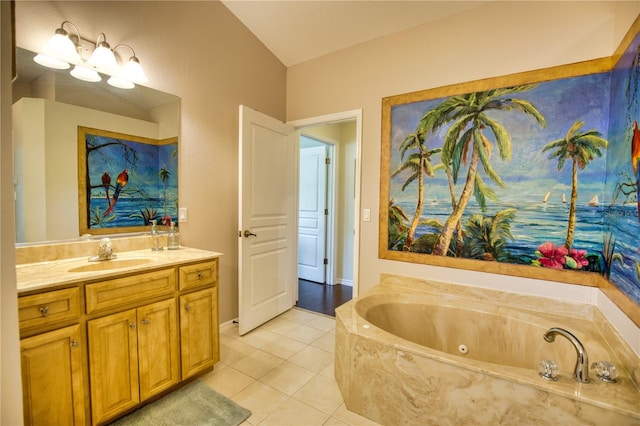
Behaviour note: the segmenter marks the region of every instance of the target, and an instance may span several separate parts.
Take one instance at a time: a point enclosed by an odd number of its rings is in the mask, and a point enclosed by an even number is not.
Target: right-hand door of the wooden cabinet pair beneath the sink
[[[138,308],[140,400],[178,383],[178,321],[176,300]]]

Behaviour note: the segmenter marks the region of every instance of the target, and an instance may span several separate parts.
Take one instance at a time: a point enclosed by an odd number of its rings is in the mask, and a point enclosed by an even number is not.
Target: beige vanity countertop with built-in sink
[[[222,253],[188,247],[161,251],[133,250],[115,254],[116,259],[99,262],[89,262],[89,256],[85,256],[17,265],[18,294],[185,263],[202,262],[222,255]]]

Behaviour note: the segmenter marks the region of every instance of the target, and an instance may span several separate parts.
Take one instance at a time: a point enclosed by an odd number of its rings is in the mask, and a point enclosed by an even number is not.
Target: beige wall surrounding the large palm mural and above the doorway
[[[378,259],[381,100],[608,57],[639,12],[637,1],[495,2],[288,68],[287,120],[363,110],[361,207],[374,220],[361,222],[360,292],[386,272],[595,303],[591,288]],[[640,331],[623,323],[640,351]]]

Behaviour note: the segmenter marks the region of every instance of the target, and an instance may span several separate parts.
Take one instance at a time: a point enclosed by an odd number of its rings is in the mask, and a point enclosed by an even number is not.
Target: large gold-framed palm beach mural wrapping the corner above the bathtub
[[[633,31],[614,68],[606,58],[384,98],[379,256],[613,284],[637,308]]]

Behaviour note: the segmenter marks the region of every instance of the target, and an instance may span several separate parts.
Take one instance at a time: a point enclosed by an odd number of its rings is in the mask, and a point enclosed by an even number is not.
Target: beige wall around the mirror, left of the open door
[[[18,46],[41,49],[63,20],[131,45],[148,85],[181,98],[181,243],[224,253],[220,319],[237,317],[238,105],[284,120],[286,68],[216,1],[18,1]]]

